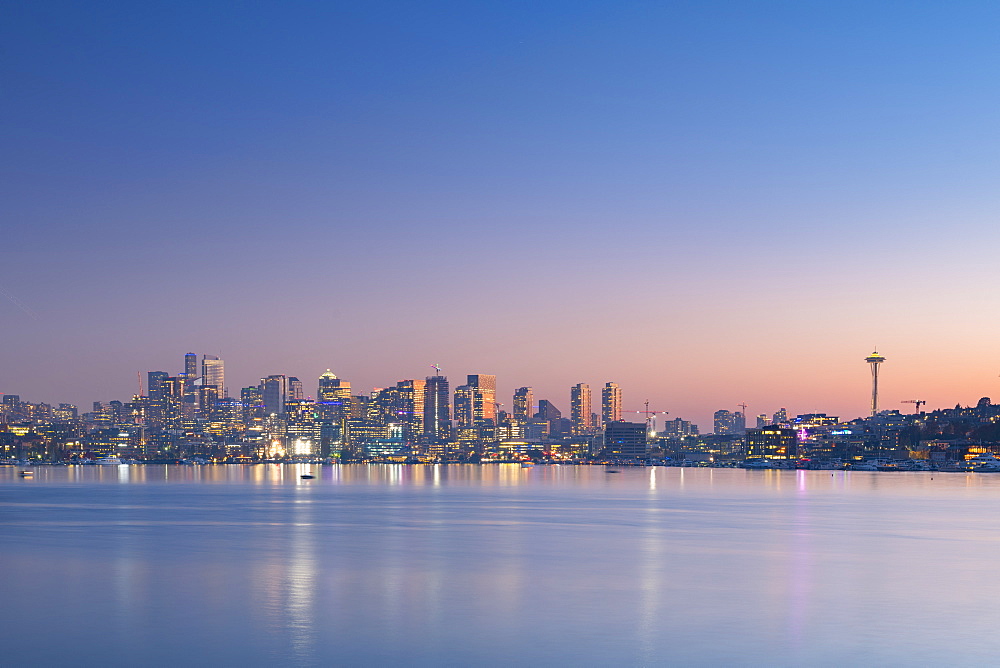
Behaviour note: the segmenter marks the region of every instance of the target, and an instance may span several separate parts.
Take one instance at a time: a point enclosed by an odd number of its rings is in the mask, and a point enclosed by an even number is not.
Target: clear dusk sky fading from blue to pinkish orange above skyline
[[[494,373],[1000,397],[993,2],[50,2],[0,19],[0,392]],[[1000,401],[1000,399],[998,399]]]

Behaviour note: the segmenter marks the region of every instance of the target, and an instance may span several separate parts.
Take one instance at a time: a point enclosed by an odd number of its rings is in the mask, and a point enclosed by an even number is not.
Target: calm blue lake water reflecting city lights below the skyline
[[[1000,661],[1000,474],[17,471],[4,665]]]

